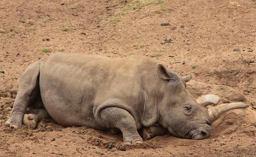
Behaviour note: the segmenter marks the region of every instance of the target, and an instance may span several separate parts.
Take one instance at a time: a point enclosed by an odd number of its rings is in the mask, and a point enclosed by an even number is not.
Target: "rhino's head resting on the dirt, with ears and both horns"
[[[207,109],[208,104],[217,104],[217,95],[204,95],[198,99],[186,90],[191,74],[180,77],[157,64],[157,74],[163,79],[163,98],[160,103],[160,123],[177,137],[204,139],[209,136],[211,123],[230,109],[248,107],[244,103],[221,104]]]

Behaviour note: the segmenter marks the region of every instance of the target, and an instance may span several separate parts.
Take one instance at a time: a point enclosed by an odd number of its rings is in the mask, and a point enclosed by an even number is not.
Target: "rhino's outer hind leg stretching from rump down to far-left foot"
[[[12,108],[11,117],[5,123],[6,126],[20,129],[27,108],[38,99],[39,68],[40,62],[35,62],[20,76],[19,90]]]

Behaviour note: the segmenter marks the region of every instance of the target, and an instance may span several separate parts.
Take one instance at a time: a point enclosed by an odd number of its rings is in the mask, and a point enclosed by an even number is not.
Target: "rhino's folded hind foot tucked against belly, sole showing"
[[[51,118],[45,109],[31,109],[23,117],[23,124],[35,129],[37,123],[43,119]]]

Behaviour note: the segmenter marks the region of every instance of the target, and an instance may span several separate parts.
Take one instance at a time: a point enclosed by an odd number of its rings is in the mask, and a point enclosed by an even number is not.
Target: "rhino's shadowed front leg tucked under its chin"
[[[168,133],[168,130],[163,128],[162,126],[150,126],[143,127],[141,130],[141,136],[143,140],[149,140],[156,136],[163,136]]]

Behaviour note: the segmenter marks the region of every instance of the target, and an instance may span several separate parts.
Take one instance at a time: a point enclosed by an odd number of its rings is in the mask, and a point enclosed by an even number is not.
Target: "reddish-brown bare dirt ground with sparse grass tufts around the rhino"
[[[4,126],[20,74],[55,52],[156,57],[192,73],[196,97],[250,107],[222,115],[207,139],[165,135],[135,146],[52,120],[35,130]],[[256,157],[256,0],[1,0],[0,156]]]

